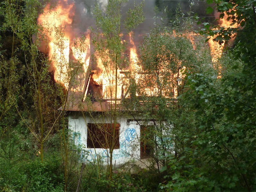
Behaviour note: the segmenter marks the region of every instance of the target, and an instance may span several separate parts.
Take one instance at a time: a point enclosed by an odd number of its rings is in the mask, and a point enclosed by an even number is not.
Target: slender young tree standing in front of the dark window
[[[100,4],[95,5],[94,17],[96,20],[97,31],[93,38],[95,46],[95,58],[97,62],[102,62],[103,70],[106,75],[106,86],[108,89],[107,97],[110,98],[111,108],[108,112],[103,112],[102,117],[109,119],[110,123],[114,125],[114,131],[111,133],[112,139],[108,143],[109,148],[109,179],[112,178],[112,159],[113,150],[115,148],[116,137],[116,119],[118,116],[118,101],[117,89],[118,85],[118,69],[124,64],[124,50],[125,46],[122,43],[124,30],[130,32],[132,28],[136,27],[143,20],[142,6],[134,4],[133,9],[128,9],[127,12],[121,13],[123,6],[128,1],[111,0],[105,5],[104,10],[100,8]],[[124,31],[125,32],[125,31]],[[111,142],[112,141],[112,142]]]

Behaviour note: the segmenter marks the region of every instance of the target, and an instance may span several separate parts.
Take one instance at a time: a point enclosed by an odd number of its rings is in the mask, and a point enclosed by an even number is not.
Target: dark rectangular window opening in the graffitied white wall
[[[88,123],[87,148],[112,148],[120,147],[120,124],[93,124]]]

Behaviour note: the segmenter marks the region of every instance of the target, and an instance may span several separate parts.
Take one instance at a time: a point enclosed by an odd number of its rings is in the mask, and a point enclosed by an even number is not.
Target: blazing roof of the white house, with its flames
[[[88,28],[84,33],[80,31],[79,34],[75,30],[70,30],[73,28],[76,7],[75,4],[68,2],[68,0],[58,1],[54,8],[51,8],[51,4],[48,3],[43,13],[38,16],[37,23],[41,26],[41,36],[44,39],[39,50],[48,54],[51,63],[49,70],[54,71],[55,82],[68,91],[68,103],[65,110],[108,110],[128,97],[130,86],[128,78],[132,77],[138,84],[143,76],[147,76],[137,62],[134,36],[132,33],[121,34],[122,43],[127,47],[123,54],[129,59],[124,59],[127,65],[120,65],[116,68],[108,62],[108,52],[105,52],[103,57],[100,55],[102,53],[93,50],[91,31]],[[196,49],[194,44],[196,35],[195,33],[188,35],[194,50]],[[209,42],[211,44],[213,41]],[[215,47],[216,43],[212,46]],[[216,48],[211,48],[213,62],[215,62],[214,58],[221,56],[222,47],[220,46],[217,52]],[[185,70],[185,68],[181,69]],[[178,72],[178,77],[182,78],[181,71]],[[179,84],[180,80],[177,81]],[[152,90],[144,88],[144,92],[152,96]]]

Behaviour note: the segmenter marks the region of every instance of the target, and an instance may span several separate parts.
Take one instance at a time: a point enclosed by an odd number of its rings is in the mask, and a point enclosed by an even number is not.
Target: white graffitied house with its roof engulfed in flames
[[[148,151],[147,145],[141,143],[140,135],[145,126],[152,124],[152,120],[142,126],[136,111],[128,109],[127,113],[123,105],[128,97],[136,96],[131,92],[129,79],[138,83],[143,74],[142,67],[136,61],[137,51],[132,33],[122,35],[122,44],[126,44],[122,62],[126,65],[119,63],[117,66],[111,61],[109,52],[102,55],[102,52],[93,50],[88,26],[86,32],[84,28],[74,26],[74,18],[78,20],[75,4],[68,3],[68,0],[59,3],[54,10],[47,4],[38,17],[37,22],[42,27],[41,36],[45,39],[39,50],[48,54],[51,62],[49,70],[54,72],[55,82],[67,90],[67,102],[61,109],[69,112],[69,129],[75,144],[82,148],[81,159],[101,160],[106,164],[109,159],[113,164],[139,160]],[[84,14],[88,12],[86,9],[80,11]],[[193,38],[190,41],[193,44]],[[195,46],[193,48],[196,49]],[[172,57],[172,53],[168,54]],[[173,79],[182,78],[182,70],[179,68]],[[179,86],[179,81],[175,82]],[[152,96],[154,89],[144,87],[142,91]],[[172,91],[177,92],[174,88]]]

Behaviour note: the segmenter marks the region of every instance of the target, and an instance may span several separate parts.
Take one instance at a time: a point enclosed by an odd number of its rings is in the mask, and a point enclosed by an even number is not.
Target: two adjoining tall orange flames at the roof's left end
[[[42,27],[45,37],[45,49],[43,46],[39,50],[48,53],[51,67],[54,71],[55,82],[63,85],[66,90],[70,84],[70,49],[75,61],[83,64],[84,70],[89,67],[90,60],[90,36],[87,35],[84,42],[76,44],[70,41],[74,34],[65,30],[71,28],[75,14],[74,4],[68,4],[68,0],[59,0],[54,8],[48,3],[44,12],[38,16],[37,23]],[[72,46],[72,44],[74,44]],[[83,46],[81,46],[83,44]]]

